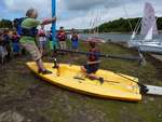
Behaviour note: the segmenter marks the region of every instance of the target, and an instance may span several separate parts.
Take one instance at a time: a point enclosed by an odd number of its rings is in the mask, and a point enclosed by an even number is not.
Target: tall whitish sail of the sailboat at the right
[[[154,9],[150,3],[146,2],[140,35],[144,37],[148,37],[147,35],[149,35],[150,37],[151,35],[149,32],[152,32],[152,35],[158,35],[157,18]]]

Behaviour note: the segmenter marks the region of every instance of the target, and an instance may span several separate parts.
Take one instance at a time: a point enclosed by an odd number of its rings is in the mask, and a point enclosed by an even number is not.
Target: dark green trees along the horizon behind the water
[[[99,32],[131,32],[132,29],[134,29],[137,25],[137,23],[141,19],[141,17],[136,18],[119,18],[116,21],[111,21],[108,23],[104,23],[99,25],[98,31]],[[129,24],[129,21],[131,22],[132,27]],[[158,29],[162,30],[162,17],[159,17],[157,21]],[[0,21],[0,28],[13,28],[12,21],[10,19],[1,19]],[[96,29],[96,28],[94,28]],[[140,30],[140,28],[139,28]],[[84,30],[84,32],[89,32],[87,29]]]

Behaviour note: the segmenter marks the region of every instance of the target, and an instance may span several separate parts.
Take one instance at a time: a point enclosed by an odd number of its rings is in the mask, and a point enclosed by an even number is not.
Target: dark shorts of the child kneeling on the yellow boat
[[[84,65],[84,68],[86,69],[86,73],[95,73],[98,68],[99,68],[99,64],[95,64],[95,65]]]

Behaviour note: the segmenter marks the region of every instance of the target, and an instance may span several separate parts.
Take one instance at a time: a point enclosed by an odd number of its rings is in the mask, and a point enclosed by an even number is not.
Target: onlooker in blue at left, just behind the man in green
[[[15,56],[17,56],[19,55],[19,36],[16,31],[13,32],[11,40],[13,45],[13,53]]]

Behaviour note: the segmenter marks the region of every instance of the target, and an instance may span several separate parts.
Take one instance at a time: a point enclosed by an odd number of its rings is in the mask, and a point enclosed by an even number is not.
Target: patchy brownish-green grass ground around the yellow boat
[[[69,43],[68,43],[69,44]],[[70,46],[70,45],[68,45]],[[80,44],[87,51],[87,43]],[[114,55],[137,55],[112,43],[100,44],[102,52]],[[77,55],[75,55],[77,56]],[[86,57],[59,56],[63,63],[83,65]],[[68,60],[70,58],[70,60]],[[146,55],[147,65],[136,62],[103,59],[102,69],[138,77],[147,84],[162,86],[161,63]],[[12,110],[31,122],[161,122],[162,97],[144,96],[141,103],[98,99],[59,89],[38,79],[25,66],[29,57],[13,59],[0,67],[0,114]],[[44,60],[52,62],[51,57]],[[0,120],[1,121],[1,120]]]

